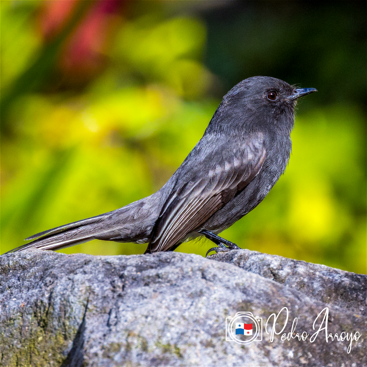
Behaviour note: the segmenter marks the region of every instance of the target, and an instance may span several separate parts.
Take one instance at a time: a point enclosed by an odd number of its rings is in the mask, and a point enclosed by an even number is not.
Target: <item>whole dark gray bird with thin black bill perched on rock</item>
[[[316,92],[283,80],[254,76],[224,97],[203,137],[166,184],[127,206],[26,238],[11,251],[59,250],[93,239],[148,243],[145,254],[173,251],[206,237],[217,247],[239,249],[219,236],[269,193],[290,158],[294,109]]]

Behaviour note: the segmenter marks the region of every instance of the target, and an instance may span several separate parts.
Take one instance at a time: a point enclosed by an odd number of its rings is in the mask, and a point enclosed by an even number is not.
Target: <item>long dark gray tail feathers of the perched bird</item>
[[[149,198],[146,197],[96,217],[82,219],[37,233],[25,239],[33,241],[8,252],[30,248],[59,250],[94,239],[116,242],[148,242],[158,216],[155,210],[152,210],[149,201],[147,203]]]

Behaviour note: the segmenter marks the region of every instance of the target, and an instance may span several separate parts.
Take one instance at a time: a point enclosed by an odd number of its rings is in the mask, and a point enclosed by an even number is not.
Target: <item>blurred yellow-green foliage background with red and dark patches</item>
[[[366,272],[366,2],[30,0],[0,10],[1,253],[158,190],[223,95],[266,75],[318,92],[298,103],[285,174],[222,236]],[[145,248],[94,240],[61,252]]]

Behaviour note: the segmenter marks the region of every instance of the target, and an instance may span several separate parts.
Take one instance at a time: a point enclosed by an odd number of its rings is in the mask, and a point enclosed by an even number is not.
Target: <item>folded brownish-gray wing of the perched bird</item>
[[[194,168],[174,186],[153,228],[147,251],[168,251],[199,228],[254,179],[265,156],[263,142],[254,139],[232,153],[230,159],[224,159],[220,149],[214,156],[206,157],[211,169],[196,172]],[[215,162],[218,163],[213,166]],[[197,166],[200,170],[200,164]]]

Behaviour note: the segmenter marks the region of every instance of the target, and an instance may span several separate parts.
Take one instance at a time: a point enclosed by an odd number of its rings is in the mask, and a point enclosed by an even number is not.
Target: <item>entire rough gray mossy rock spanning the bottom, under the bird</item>
[[[366,366],[366,278],[248,250],[1,255],[1,366]],[[237,312],[262,341],[226,340]]]

